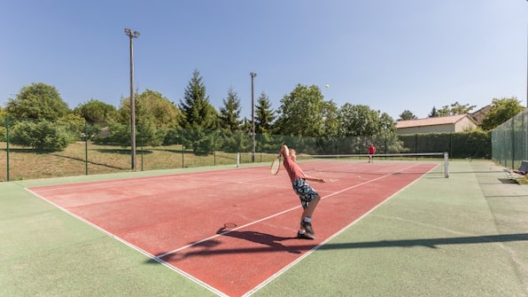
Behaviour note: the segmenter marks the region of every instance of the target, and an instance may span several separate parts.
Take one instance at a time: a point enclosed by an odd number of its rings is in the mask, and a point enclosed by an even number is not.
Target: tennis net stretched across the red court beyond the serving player
[[[237,167],[252,163],[269,163],[276,159],[276,153],[265,152],[238,152]],[[385,174],[398,172],[400,168],[408,164],[435,163],[441,174],[449,177],[449,157],[447,152],[424,152],[424,153],[377,153],[372,163],[377,166],[363,166],[361,163],[369,163],[369,154],[328,154],[311,155],[298,153],[297,161],[303,163],[303,170],[341,171],[350,173],[371,172]],[[351,166],[353,165],[353,166]]]

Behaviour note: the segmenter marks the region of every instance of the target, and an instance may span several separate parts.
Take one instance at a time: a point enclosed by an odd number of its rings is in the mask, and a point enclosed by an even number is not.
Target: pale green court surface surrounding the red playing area
[[[528,296],[528,185],[491,161],[441,169],[252,296]],[[188,171],[1,183],[0,296],[216,296],[25,190]]]

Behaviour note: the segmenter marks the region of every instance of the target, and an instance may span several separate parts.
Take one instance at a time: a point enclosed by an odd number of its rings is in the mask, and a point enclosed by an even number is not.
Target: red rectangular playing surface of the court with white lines
[[[317,162],[301,167],[322,201],[315,240],[296,238],[301,207],[269,168],[30,188],[36,195],[222,296],[250,295],[438,164]],[[317,170],[315,170],[317,168]]]

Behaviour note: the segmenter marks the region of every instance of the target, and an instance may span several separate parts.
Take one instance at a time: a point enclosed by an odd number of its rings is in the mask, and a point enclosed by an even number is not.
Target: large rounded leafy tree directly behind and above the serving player
[[[277,127],[283,135],[322,137],[329,105],[319,87],[298,84],[281,99]]]

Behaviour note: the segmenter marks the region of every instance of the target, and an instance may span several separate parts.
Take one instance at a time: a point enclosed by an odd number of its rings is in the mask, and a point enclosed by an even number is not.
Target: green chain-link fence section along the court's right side
[[[516,114],[492,131],[493,160],[507,168],[518,168],[528,160],[528,111]]]

